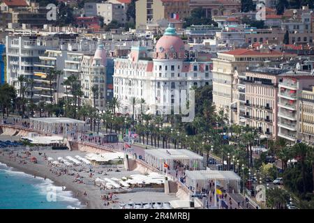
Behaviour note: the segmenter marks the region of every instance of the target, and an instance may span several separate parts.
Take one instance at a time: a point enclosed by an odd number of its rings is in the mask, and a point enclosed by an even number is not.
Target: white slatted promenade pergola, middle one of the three
[[[191,170],[204,169],[204,157],[187,149],[147,149],[145,162],[159,170],[163,170],[164,164],[167,164],[170,172],[174,171],[178,165]]]

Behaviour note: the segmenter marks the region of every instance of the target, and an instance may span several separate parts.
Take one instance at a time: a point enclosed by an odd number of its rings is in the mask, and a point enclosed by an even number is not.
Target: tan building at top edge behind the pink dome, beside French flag
[[[136,27],[171,20],[173,14],[178,16],[177,20],[184,20],[190,15],[189,0],[139,0],[135,4]]]

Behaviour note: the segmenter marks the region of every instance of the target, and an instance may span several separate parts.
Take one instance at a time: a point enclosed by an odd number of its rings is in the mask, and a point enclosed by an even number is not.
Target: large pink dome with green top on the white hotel
[[[171,24],[156,44],[154,59],[184,59],[184,42]]]

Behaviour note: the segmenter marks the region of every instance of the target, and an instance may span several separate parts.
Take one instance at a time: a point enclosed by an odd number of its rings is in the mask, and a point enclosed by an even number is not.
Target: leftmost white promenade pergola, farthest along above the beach
[[[85,122],[73,118],[29,118],[34,130],[50,134],[85,132]]]

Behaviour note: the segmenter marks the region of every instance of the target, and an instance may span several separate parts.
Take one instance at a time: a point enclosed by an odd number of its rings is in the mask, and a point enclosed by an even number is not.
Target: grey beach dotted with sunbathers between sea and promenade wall
[[[69,167],[68,173],[63,173],[62,169],[52,167],[49,164],[47,157],[52,157],[57,160],[58,157],[66,157],[68,155],[75,157],[80,155],[84,157],[87,153],[80,151],[30,151],[31,155],[26,157],[25,151],[1,151],[0,162],[7,164],[9,167],[17,169],[17,171],[23,171],[26,174],[36,175],[42,178],[48,178],[54,182],[54,185],[60,187],[66,187],[65,190],[73,192],[73,197],[79,199],[83,208],[91,209],[107,209],[107,208],[119,208],[120,203],[129,202],[144,202],[144,201],[156,201],[167,202],[177,199],[173,196],[165,194],[164,192],[154,192],[140,190],[138,192],[117,192],[113,190],[100,190],[99,187],[94,185],[96,178],[122,178],[124,176],[130,176],[131,174],[141,174],[139,171],[126,171],[119,169],[117,171],[108,171],[106,168],[94,167],[93,176],[90,176],[89,167]],[[18,157],[17,157],[18,153]],[[26,157],[26,158],[24,158]],[[36,157],[37,163],[34,164],[30,161],[30,157]],[[26,162],[26,164],[24,163]],[[82,178],[83,183],[73,182],[77,178],[77,174]],[[87,195],[84,195],[86,192]],[[112,201],[104,201],[102,195],[110,195],[113,192]],[[105,204],[104,204],[105,203]],[[108,205],[109,204],[109,205]]]

